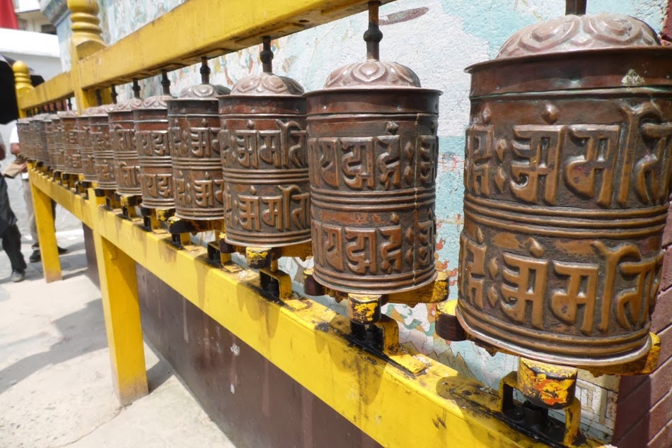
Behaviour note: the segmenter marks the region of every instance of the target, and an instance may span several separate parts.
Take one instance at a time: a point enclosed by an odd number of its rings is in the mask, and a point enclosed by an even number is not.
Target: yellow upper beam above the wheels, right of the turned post
[[[383,0],[388,3],[390,0]],[[364,11],[365,0],[190,0],[80,61],[81,87],[193,64]]]

